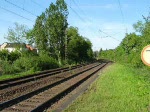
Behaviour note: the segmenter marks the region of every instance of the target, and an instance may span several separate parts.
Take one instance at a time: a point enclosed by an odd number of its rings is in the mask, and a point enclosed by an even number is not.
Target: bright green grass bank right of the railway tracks
[[[65,112],[150,112],[149,72],[113,64]]]

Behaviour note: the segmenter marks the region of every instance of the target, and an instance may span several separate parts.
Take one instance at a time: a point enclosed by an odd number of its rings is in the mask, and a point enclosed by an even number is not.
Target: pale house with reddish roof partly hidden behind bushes
[[[5,42],[0,46],[0,50],[6,49],[9,52],[13,52],[15,50],[29,50],[29,51],[33,51],[33,52],[37,52],[36,48],[33,48],[31,45],[29,44],[25,44],[25,43],[8,43]]]

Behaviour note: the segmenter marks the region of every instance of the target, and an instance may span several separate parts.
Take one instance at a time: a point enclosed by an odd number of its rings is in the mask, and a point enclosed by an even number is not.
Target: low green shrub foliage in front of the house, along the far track
[[[35,72],[59,67],[57,61],[46,54],[38,56],[30,53],[22,53],[23,55],[21,55],[18,52],[9,53],[6,50],[0,52],[0,54],[2,53],[5,53],[2,55],[4,59],[0,60],[2,74],[14,74],[26,71]],[[8,58],[5,55],[8,55]]]

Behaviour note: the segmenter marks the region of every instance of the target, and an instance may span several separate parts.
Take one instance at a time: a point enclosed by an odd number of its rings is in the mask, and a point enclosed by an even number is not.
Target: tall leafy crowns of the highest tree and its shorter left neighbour
[[[65,58],[65,33],[68,9],[64,0],[51,3],[36,20],[33,29],[35,43],[40,53],[47,52],[61,63]]]

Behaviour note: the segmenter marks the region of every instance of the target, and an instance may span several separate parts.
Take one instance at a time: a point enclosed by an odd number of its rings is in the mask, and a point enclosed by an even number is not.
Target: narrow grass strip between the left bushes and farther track
[[[33,73],[35,73],[35,72],[32,71],[32,70],[29,70],[27,72],[22,72],[22,73],[5,74],[5,75],[1,75],[0,76],[0,81],[1,80],[6,80],[6,79],[13,79],[13,78],[18,78],[18,77],[23,77],[23,76],[27,76],[27,75],[32,75]]]

